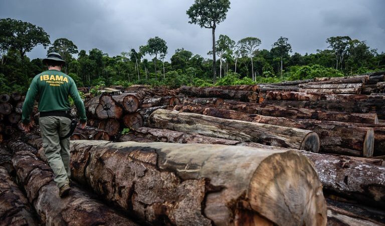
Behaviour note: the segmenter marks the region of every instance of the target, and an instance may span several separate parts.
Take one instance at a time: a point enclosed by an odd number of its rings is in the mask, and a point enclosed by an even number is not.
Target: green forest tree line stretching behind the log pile
[[[257,37],[232,40],[221,34],[215,41],[216,65],[213,59],[180,48],[169,60],[167,43],[150,38],[143,46],[117,56],[100,49],[79,50],[76,43],[60,38],[51,43],[43,28],[14,19],[0,20],[0,88],[3,92],[25,92],[32,78],[46,70],[42,59],[26,56],[35,46],[58,52],[67,62],[63,69],[78,87],[131,84],[213,85],[253,84],[298,80],[313,77],[344,76],[385,70],[385,53],[378,53],[365,41],[348,36],[329,37],[328,48],[310,54],[293,53],[290,40],[279,37],[270,49],[260,49]],[[18,34],[15,36],[15,34]],[[213,49],[214,49],[213,48]],[[148,60],[145,56],[152,58]],[[213,50],[208,56],[213,56]],[[42,56],[44,58],[45,56]]]

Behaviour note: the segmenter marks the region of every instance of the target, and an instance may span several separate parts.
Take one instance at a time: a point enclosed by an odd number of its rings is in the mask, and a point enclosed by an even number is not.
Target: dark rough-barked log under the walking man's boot
[[[66,198],[60,198],[51,168],[22,150],[23,145],[15,145],[12,161],[29,201],[46,225],[137,225],[75,186]]]

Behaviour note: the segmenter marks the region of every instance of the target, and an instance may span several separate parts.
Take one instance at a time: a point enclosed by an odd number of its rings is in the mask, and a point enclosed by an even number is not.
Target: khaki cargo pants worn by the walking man
[[[59,140],[70,132],[71,120],[66,117],[48,116],[39,119],[44,154],[54,171],[54,181],[60,188],[69,183],[70,138]]]

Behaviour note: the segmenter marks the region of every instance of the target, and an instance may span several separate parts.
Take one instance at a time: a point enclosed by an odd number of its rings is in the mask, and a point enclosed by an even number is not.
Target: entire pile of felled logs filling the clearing
[[[57,197],[38,130],[0,149],[0,188],[12,191],[0,214],[13,213],[0,218],[32,225],[73,223],[72,215],[80,224],[325,225],[327,218],[328,225],[383,225],[384,78],[103,93],[85,103],[88,127],[71,137],[78,184],[68,199]],[[15,174],[27,196],[14,188]]]

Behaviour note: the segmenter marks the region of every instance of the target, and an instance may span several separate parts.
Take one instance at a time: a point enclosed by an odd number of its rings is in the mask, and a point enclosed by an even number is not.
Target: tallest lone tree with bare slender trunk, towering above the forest
[[[212,29],[213,32],[213,82],[217,82],[216,46],[215,29],[226,19],[226,14],[230,9],[229,0],[195,0],[186,14],[190,24],[198,24],[201,28]]]

